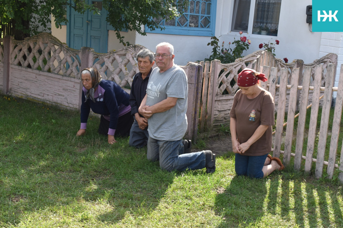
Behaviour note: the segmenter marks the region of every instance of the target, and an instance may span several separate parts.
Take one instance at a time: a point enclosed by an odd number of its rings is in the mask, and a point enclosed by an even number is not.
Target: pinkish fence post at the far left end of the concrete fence
[[[11,37],[5,36],[3,38],[3,85],[2,91],[4,94],[8,94],[10,91],[10,49],[11,49]]]

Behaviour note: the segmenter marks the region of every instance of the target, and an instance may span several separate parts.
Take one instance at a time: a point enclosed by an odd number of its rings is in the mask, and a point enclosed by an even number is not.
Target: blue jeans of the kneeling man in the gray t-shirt
[[[159,166],[169,172],[173,170],[184,171],[186,169],[199,170],[205,167],[204,151],[179,155],[180,147],[183,147],[182,139],[166,141],[149,137],[147,159],[150,161],[159,160]]]

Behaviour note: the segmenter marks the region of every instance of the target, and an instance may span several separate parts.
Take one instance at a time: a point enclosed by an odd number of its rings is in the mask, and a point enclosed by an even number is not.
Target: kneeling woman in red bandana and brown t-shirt
[[[237,175],[263,178],[283,170],[281,160],[271,157],[274,99],[262,89],[263,73],[245,68],[238,74],[239,89],[230,111],[230,132]]]

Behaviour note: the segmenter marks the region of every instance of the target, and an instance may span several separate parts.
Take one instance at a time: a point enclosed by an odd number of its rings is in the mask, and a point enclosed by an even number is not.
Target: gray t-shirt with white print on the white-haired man
[[[185,71],[177,65],[163,73],[156,67],[151,72],[146,88],[146,105],[152,106],[167,97],[177,97],[176,105],[165,111],[154,113],[148,120],[149,136],[157,140],[182,139],[187,131],[188,80]]]

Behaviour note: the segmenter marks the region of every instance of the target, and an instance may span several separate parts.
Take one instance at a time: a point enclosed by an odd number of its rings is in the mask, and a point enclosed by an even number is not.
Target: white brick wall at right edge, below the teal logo
[[[334,86],[338,86],[341,64],[343,64],[343,32],[322,32],[318,57],[321,58],[329,53],[338,55],[334,83]],[[336,92],[333,93],[333,97],[336,97]]]

